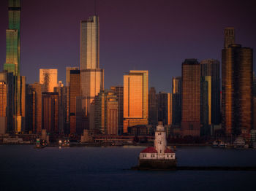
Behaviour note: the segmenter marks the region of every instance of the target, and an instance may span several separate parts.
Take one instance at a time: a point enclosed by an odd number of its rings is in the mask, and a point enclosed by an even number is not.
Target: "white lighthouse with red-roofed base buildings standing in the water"
[[[165,127],[162,122],[157,125],[154,147],[147,147],[140,152],[139,168],[141,169],[176,169],[176,155],[167,148]]]

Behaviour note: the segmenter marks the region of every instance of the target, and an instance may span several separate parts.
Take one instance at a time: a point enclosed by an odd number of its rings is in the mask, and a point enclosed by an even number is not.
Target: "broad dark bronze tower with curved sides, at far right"
[[[240,44],[222,49],[222,128],[227,134],[252,129],[252,55]]]

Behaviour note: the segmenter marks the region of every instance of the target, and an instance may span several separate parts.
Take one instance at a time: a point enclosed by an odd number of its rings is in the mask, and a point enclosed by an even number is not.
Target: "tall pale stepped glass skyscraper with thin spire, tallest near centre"
[[[101,90],[104,90],[104,71],[99,69],[99,17],[97,15],[80,22],[80,73],[81,96],[85,98],[82,107],[85,117],[89,120],[91,102]],[[87,129],[94,128],[90,122],[88,124]]]

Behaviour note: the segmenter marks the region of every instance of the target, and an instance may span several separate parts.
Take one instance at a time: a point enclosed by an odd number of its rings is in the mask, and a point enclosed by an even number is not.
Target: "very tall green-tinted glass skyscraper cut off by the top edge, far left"
[[[22,111],[20,108],[20,0],[9,0],[9,26],[6,30],[6,61],[4,70],[14,76],[14,131],[20,133]]]

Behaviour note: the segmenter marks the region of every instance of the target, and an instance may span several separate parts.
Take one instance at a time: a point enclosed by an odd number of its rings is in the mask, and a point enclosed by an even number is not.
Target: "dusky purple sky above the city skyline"
[[[80,66],[80,20],[94,15],[94,1],[20,1],[21,74],[31,83],[39,81],[39,69],[58,69],[65,82],[66,66]],[[149,87],[170,92],[185,58],[221,61],[225,27],[235,27],[236,43],[255,49],[255,8],[254,0],[98,0],[105,88],[141,69],[149,71]],[[7,0],[1,0],[0,69],[7,22]]]

